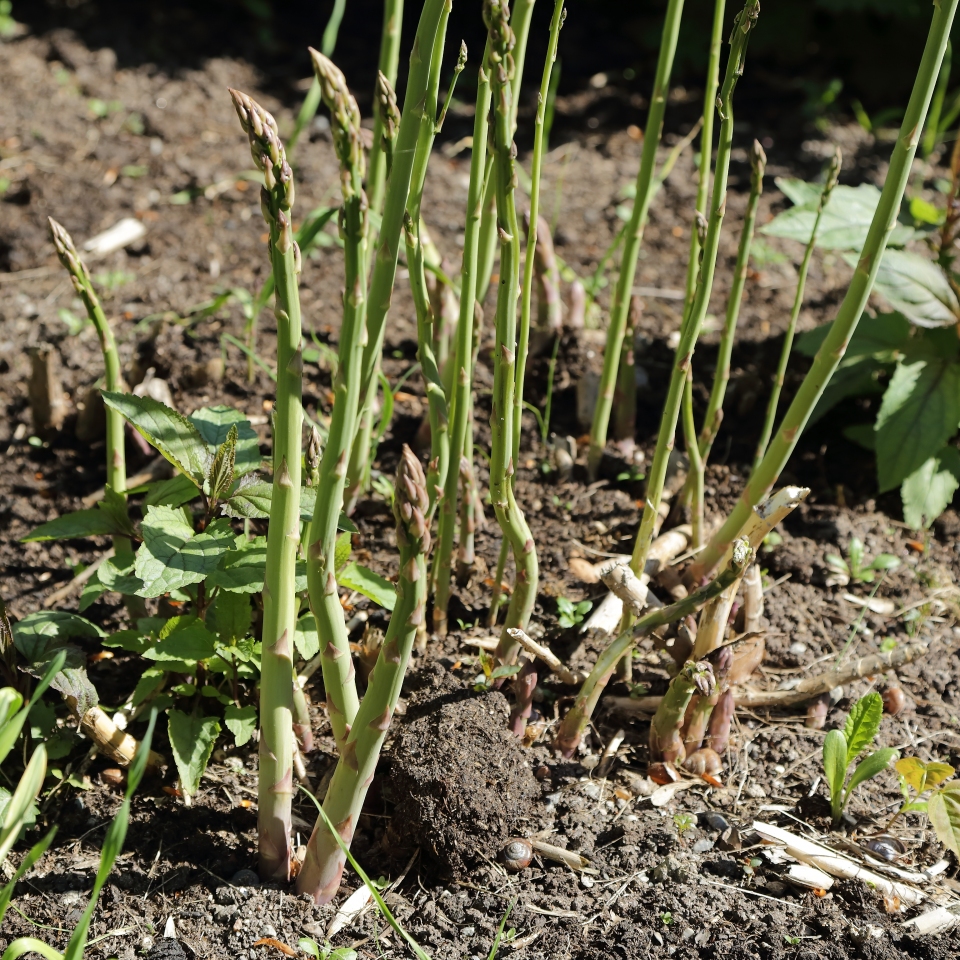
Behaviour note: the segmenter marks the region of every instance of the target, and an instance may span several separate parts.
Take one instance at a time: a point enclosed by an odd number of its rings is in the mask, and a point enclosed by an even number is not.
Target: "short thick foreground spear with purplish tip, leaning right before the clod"
[[[353,839],[357,819],[380,757],[380,749],[400,699],[400,688],[410,662],[418,628],[423,624],[427,599],[425,557],[430,551],[426,478],[420,461],[404,446],[397,468],[396,499],[400,574],[397,603],[377,664],[370,674],[367,692],[356,720],[341,747],[340,759],[327,789],[323,809],[347,844]],[[318,820],[307,845],[307,857],[297,890],[327,903],[337,892],[345,857],[322,820]]]

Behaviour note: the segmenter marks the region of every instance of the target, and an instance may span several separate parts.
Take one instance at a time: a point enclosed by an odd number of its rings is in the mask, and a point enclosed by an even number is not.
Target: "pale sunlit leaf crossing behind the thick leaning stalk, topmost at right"
[[[817,216],[817,204],[820,202],[820,187],[816,184],[807,184],[817,191],[816,197],[806,200],[799,206],[791,207],[778,214],[768,224],[760,228],[760,232],[771,237],[782,237],[787,240],[796,240],[798,243],[809,243],[810,234]],[[799,188],[791,187],[795,196],[803,196]],[[857,187],[848,187],[841,184],[835,187],[830,199],[824,207],[817,230],[817,246],[821,250],[855,250],[863,249],[867,239],[870,224],[880,202],[880,191],[872,184],[862,183]],[[912,227],[897,224],[890,234],[890,246],[903,246],[913,239],[916,231]]]

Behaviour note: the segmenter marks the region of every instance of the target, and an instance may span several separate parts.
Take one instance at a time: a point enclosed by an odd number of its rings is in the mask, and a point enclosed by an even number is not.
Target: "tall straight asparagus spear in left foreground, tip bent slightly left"
[[[276,280],[277,400],[273,428],[273,501],[267,528],[263,587],[263,657],[260,675],[260,875],[290,879],[290,813],[293,799],[293,634],[298,600],[294,589],[300,542],[300,451],[303,343],[297,277],[300,250],[293,239],[293,173],[276,121],[258,103],[230,91],[262,171],[260,208],[270,231]]]

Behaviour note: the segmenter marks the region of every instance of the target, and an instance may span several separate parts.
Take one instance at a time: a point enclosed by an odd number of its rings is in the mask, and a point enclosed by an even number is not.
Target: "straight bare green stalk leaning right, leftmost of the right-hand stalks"
[[[647,126],[643,138],[643,153],[640,158],[640,170],[637,173],[636,196],[633,211],[624,237],[623,255],[620,259],[620,275],[613,297],[613,310],[610,314],[610,327],[607,331],[607,345],[603,356],[603,373],[600,377],[600,393],[593,411],[593,424],[590,427],[590,454],[588,470],[591,479],[596,479],[607,443],[607,428],[610,424],[610,411],[613,408],[613,394],[616,389],[617,366],[623,346],[623,334],[627,324],[627,311],[630,309],[630,294],[633,290],[633,278],[637,272],[637,260],[640,257],[640,245],[643,242],[643,230],[647,223],[647,211],[654,193],[654,171],[657,161],[657,147],[663,131],[663,115],[667,106],[667,93],[670,85],[670,73],[673,70],[673,57],[677,49],[677,35],[680,32],[680,19],[683,15],[683,0],[669,0],[663,35],[660,38],[660,54],[657,59],[657,73],[650,97],[650,110],[647,114]]]

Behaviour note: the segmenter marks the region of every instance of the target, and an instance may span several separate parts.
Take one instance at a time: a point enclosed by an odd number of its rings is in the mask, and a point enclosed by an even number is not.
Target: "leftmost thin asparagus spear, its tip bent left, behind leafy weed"
[[[120,372],[120,354],[117,341],[100,305],[100,298],[93,289],[93,281],[86,264],[80,259],[70,234],[53,217],[47,217],[50,236],[56,247],[60,262],[70,274],[70,281],[77,296],[83,301],[87,316],[90,318],[100,338],[100,351],[103,353],[104,384],[111,393],[122,393],[123,376]],[[123,494],[127,488],[127,460],[124,452],[123,416],[113,407],[106,408],[107,413],[107,483],[115,493]],[[116,549],[118,539],[129,549],[126,537],[114,538]]]

